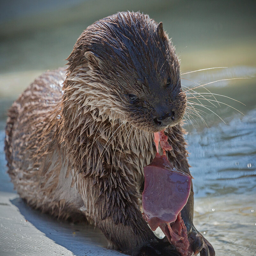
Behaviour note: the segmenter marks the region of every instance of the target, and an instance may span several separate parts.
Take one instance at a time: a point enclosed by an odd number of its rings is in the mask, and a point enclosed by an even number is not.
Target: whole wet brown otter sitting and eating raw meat
[[[5,153],[15,189],[42,212],[94,223],[109,248],[179,255],[139,208],[154,132],[166,129],[169,161],[190,174],[186,95],[162,22],[118,12],[86,28],[67,60],[67,69],[39,76],[8,112]],[[213,256],[193,225],[193,208],[192,188],[181,216],[195,255]]]

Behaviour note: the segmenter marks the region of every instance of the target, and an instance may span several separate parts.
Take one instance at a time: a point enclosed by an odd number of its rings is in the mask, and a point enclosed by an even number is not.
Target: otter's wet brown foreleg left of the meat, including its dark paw
[[[95,199],[92,218],[107,237],[109,248],[130,255],[178,255],[170,243],[158,239],[148,227],[137,204],[135,186],[120,173],[112,170],[85,181],[91,199]]]

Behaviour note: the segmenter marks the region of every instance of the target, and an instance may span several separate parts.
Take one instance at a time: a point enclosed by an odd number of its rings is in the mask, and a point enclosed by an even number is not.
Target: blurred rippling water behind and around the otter
[[[66,1],[68,2],[68,1]],[[198,71],[182,75],[184,90],[196,83],[206,85],[223,102],[207,112],[202,121],[196,117],[184,124],[188,134],[189,163],[194,180],[196,228],[212,243],[216,255],[256,255],[256,47],[254,8],[234,2],[149,1],[142,5],[133,1],[109,1],[98,11],[92,1],[76,1],[56,12],[44,8],[30,24],[33,12],[24,12],[0,29],[0,190],[12,191],[4,160],[4,125],[6,109],[12,100],[42,71],[57,68],[71,52],[76,38],[94,20],[116,10],[148,12],[157,21],[163,21],[164,29],[180,52],[181,72],[203,68],[228,67]],[[47,2],[48,3],[48,2]],[[77,4],[80,3],[80,4]],[[133,5],[132,5],[133,4]],[[22,8],[22,7],[19,7]],[[40,9],[40,8],[39,8]],[[211,12],[209,11],[211,10]],[[39,10],[40,11],[40,10]],[[39,12],[36,9],[36,13]],[[72,12],[71,12],[72,11]],[[53,15],[55,14],[55,15]],[[65,14],[64,21],[61,16]],[[54,16],[54,18],[53,18]],[[49,19],[46,19],[48,17]],[[6,18],[6,19],[7,19]],[[43,19],[44,18],[44,19]],[[4,18],[3,18],[4,19]],[[1,20],[0,20],[1,22]],[[16,22],[16,23],[15,23]],[[18,24],[19,23],[19,24]],[[18,24],[17,26],[14,25]],[[23,25],[22,25],[23,24]],[[13,30],[10,29],[13,26]],[[14,40],[14,35],[19,40]],[[187,47],[187,48],[185,48]],[[188,81],[188,80],[190,81]],[[195,81],[196,83],[194,84]],[[194,84],[194,85],[193,85]],[[191,87],[190,87],[191,88]],[[207,93],[202,87],[197,92]],[[191,91],[190,91],[191,92]],[[213,96],[208,97],[214,100]],[[192,96],[192,95],[190,95]],[[194,95],[195,96],[195,95]],[[191,99],[196,102],[196,99]],[[203,104],[212,106],[203,100]],[[214,103],[213,101],[211,101]],[[215,103],[214,103],[215,104]],[[228,104],[237,110],[228,107]],[[213,107],[213,106],[212,106]],[[243,114],[241,114],[240,112]],[[195,116],[194,116],[195,117]],[[57,116],[56,118],[59,118]],[[221,119],[223,120],[221,120]],[[225,122],[225,123],[224,123]],[[205,124],[206,123],[206,124]],[[161,236],[161,234],[158,234]]]

